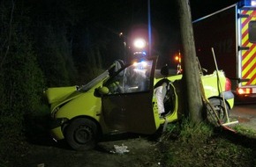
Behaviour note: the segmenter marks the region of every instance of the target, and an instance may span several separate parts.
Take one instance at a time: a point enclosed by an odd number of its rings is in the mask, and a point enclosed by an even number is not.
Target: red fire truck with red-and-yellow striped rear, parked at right
[[[239,1],[192,21],[192,26],[201,66],[215,70],[215,54],[237,102],[256,101],[256,1]]]

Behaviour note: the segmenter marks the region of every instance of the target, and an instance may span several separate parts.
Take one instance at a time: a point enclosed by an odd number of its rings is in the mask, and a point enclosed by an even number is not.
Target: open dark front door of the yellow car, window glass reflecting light
[[[104,84],[111,90],[102,97],[102,112],[108,127],[139,134],[153,134],[159,127],[152,104],[155,63],[156,58],[152,58],[132,64]],[[117,84],[119,91],[113,91],[113,85]]]

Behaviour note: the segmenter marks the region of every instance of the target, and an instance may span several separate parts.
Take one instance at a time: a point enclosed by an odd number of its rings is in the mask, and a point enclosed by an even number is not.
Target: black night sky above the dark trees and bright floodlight
[[[59,15],[56,20],[63,19],[65,21],[65,19],[70,19],[68,18],[70,13],[66,11],[72,11],[72,18],[79,20],[76,26],[90,25],[90,27],[94,28],[94,33],[97,32],[95,37],[91,35],[91,38],[101,38],[103,36],[102,32],[107,33],[109,39],[112,38],[108,48],[111,47],[112,50],[110,52],[114,51],[115,55],[117,55],[115,50],[124,49],[122,48],[122,41],[117,41],[120,40],[119,33],[124,33],[126,43],[129,46],[131,46],[134,36],[142,34],[147,37],[148,35],[147,0],[40,0],[39,2],[41,3],[34,0],[30,1],[37,6],[36,12],[38,12],[38,9],[41,11],[41,13],[34,16],[37,20],[50,18],[50,15]],[[60,4],[63,4],[63,2],[68,3],[61,6]],[[237,0],[191,0],[192,20],[206,16],[236,2]],[[181,49],[177,4],[175,3],[176,0],[150,0],[152,53],[159,55],[159,63],[170,63],[172,66],[174,55]],[[66,18],[63,16],[66,16]],[[84,27],[81,26],[81,29],[83,30]],[[79,33],[79,30],[76,30],[76,33]],[[78,36],[80,35],[78,34]],[[116,44],[114,44],[115,42]]]

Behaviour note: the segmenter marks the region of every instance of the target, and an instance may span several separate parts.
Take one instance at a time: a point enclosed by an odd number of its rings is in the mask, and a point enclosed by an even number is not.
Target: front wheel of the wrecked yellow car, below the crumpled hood
[[[66,128],[65,139],[72,149],[94,149],[97,140],[97,125],[93,120],[76,119]]]

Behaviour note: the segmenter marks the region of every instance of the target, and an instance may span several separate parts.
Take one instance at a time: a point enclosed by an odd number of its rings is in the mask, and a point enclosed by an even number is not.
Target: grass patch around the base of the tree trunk
[[[237,126],[234,127],[237,133],[233,133],[205,123],[193,125],[188,120],[170,125],[168,129],[171,131],[165,135],[169,137],[163,141],[166,167],[256,166],[256,133],[253,130]]]

